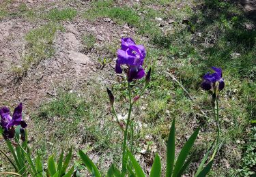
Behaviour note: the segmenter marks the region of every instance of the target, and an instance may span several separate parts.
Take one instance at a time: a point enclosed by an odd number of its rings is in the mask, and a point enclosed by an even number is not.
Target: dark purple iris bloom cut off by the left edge
[[[1,122],[3,134],[5,137],[14,138],[14,126],[20,125],[23,128],[27,127],[27,123],[23,120],[22,116],[23,104],[19,103],[14,109],[14,114],[10,115],[10,110],[7,107],[0,109]]]

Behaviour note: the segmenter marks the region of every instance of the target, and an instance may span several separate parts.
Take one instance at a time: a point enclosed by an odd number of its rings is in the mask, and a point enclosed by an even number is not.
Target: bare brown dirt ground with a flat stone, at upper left
[[[43,1],[28,1],[32,5],[40,5]],[[39,4],[38,4],[39,3]],[[14,7],[16,4],[14,3]],[[10,7],[12,8],[12,7]],[[21,18],[5,19],[0,22],[0,101],[2,103],[23,102],[29,108],[36,108],[38,103],[48,95],[55,95],[55,88],[69,84],[69,88],[77,90],[90,77],[98,76],[104,80],[104,70],[99,69],[98,52],[85,52],[82,42],[83,34],[93,33],[97,37],[98,46],[110,41],[119,42],[119,38],[132,34],[127,26],[117,26],[108,18],[96,22],[72,20],[64,22],[66,29],[55,35],[55,54],[39,65],[31,67],[27,76],[17,78],[12,67],[20,65],[25,54],[27,43],[25,34],[35,29],[38,24]],[[125,32],[125,33],[124,33]]]

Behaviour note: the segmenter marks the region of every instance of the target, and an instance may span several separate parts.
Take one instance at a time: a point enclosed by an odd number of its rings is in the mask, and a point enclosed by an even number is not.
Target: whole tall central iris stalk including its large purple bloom
[[[141,79],[145,75],[145,71],[142,67],[144,59],[146,56],[146,51],[144,46],[135,44],[134,40],[130,37],[122,38],[121,39],[121,48],[117,50],[117,61],[115,65],[115,71],[117,74],[122,74],[122,67],[121,65],[126,65],[128,69],[126,69],[126,76],[128,82],[128,97],[129,97],[129,109],[128,109],[128,118],[126,121],[126,127],[124,130],[124,142],[123,142],[123,152],[122,152],[122,174],[126,173],[126,148],[127,148],[127,136],[128,136],[128,129],[131,122],[131,113],[132,113],[132,105],[141,94],[145,91],[145,88],[149,82],[149,78],[147,78],[146,84],[141,91],[140,95],[134,97],[132,101],[131,95],[131,88],[130,82],[136,79]],[[114,110],[114,108],[113,108]],[[113,111],[115,112],[115,111]],[[118,121],[118,119],[117,119]],[[134,127],[133,123],[131,125],[131,151],[133,150],[133,141],[134,141]]]

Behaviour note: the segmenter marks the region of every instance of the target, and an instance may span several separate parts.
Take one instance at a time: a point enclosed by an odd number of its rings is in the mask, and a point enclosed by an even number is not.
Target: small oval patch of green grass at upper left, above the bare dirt
[[[63,20],[72,20],[76,17],[77,11],[74,8],[66,7],[62,10],[57,8],[51,9],[48,14],[46,14],[46,18],[52,21],[63,21]]]

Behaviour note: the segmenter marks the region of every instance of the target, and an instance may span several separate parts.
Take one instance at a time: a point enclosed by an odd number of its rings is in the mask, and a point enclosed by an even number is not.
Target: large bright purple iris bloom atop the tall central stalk
[[[121,65],[128,66],[128,82],[134,79],[143,78],[145,71],[142,67],[146,56],[146,50],[143,45],[135,44],[130,37],[121,39],[121,49],[117,50],[117,63],[115,71],[122,74]]]

